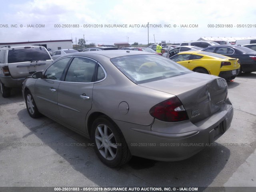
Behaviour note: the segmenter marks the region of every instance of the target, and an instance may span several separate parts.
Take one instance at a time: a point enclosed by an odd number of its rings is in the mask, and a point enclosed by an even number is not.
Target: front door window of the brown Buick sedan
[[[70,58],[63,58],[54,62],[45,72],[44,79],[60,80]]]

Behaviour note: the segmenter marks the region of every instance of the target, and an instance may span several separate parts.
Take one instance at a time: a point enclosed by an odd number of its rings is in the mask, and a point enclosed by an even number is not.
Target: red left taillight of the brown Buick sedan
[[[188,120],[188,114],[178,97],[172,97],[153,106],[150,115],[165,122],[179,122]]]

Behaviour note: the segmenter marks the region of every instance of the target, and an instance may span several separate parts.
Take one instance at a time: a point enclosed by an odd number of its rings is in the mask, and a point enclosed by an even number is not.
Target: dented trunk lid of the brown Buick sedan
[[[198,73],[148,82],[140,86],[176,95],[192,123],[216,113],[225,103],[228,92],[224,79]]]

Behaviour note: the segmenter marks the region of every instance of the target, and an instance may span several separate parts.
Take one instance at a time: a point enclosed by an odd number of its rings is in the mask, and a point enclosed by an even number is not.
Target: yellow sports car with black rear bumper
[[[236,78],[240,70],[239,59],[211,52],[180,52],[170,59],[194,72],[216,75],[227,81]]]

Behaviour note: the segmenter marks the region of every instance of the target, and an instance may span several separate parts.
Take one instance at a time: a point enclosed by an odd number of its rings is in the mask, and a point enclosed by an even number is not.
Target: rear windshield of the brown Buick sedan
[[[110,60],[136,84],[192,73],[187,68],[159,55],[131,55]]]

